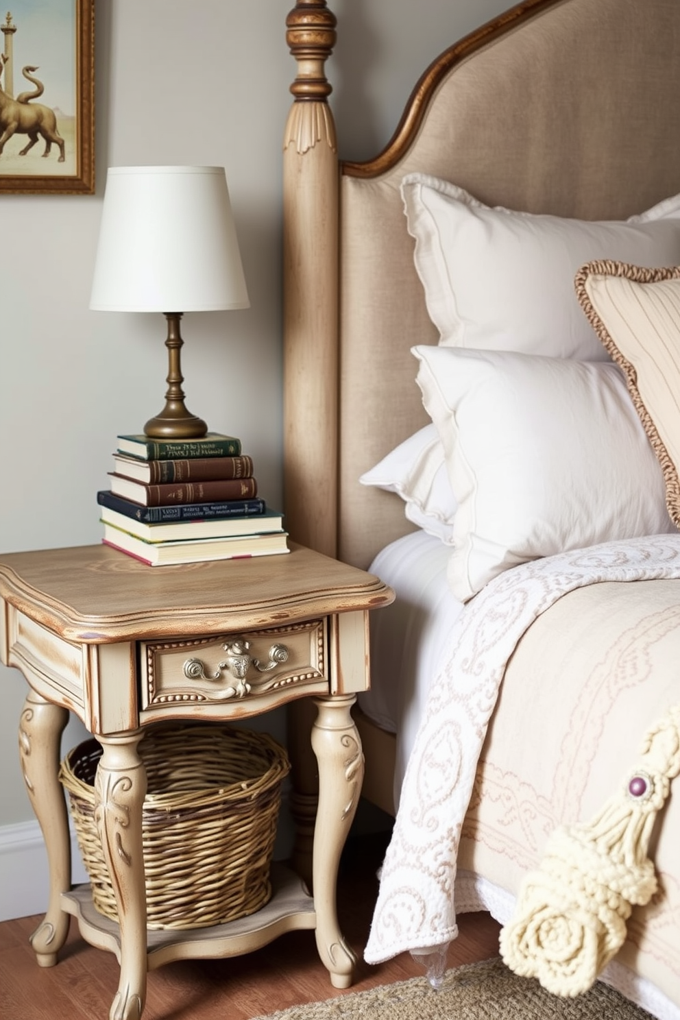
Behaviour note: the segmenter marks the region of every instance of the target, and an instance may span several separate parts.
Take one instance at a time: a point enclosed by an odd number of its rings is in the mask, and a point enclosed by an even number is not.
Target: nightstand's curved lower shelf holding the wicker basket
[[[314,901],[294,871],[272,864],[271,885],[269,903],[248,917],[206,928],[147,931],[147,969],[155,970],[173,960],[241,956],[261,949],[286,931],[316,928]],[[89,885],[62,892],[61,909],[76,919],[87,942],[114,953],[120,962],[118,925],[95,910]]]

